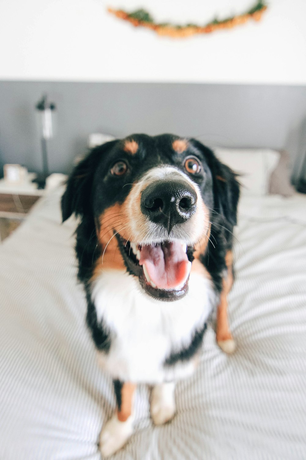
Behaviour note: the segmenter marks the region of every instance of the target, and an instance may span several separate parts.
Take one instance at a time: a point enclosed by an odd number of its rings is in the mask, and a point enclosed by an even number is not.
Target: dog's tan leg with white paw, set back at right
[[[223,278],[223,289],[220,294],[220,303],[217,307],[217,343],[225,353],[235,351],[235,342],[228,325],[227,295],[233,285],[233,253],[228,251],[225,257],[227,276]]]

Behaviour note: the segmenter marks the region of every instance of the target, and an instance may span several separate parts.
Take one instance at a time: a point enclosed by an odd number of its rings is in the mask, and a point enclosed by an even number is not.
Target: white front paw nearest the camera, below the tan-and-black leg
[[[104,457],[117,452],[127,442],[133,433],[133,417],[130,416],[125,422],[117,419],[117,414],[106,423],[100,434],[100,451]]]

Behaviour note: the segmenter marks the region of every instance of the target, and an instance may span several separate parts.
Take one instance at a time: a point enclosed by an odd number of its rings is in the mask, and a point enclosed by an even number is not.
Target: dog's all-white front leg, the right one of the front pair
[[[155,385],[151,393],[151,417],[155,425],[162,425],[175,414],[174,382]]]

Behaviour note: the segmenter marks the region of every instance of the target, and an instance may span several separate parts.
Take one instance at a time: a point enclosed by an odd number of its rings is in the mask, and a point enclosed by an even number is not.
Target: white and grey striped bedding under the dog
[[[98,460],[115,408],[95,358],[76,282],[75,222],[58,189],[0,247],[0,459]],[[306,458],[306,197],[245,197],[229,317],[237,351],[206,333],[196,374],[177,385],[177,415],[154,427],[149,389],[114,459]]]

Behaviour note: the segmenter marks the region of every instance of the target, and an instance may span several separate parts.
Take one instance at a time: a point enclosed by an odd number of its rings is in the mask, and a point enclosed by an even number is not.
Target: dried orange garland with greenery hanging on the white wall
[[[135,27],[146,27],[154,30],[158,35],[168,36],[172,38],[185,38],[195,34],[210,34],[220,29],[232,29],[235,26],[244,24],[250,19],[260,21],[262,14],[267,10],[267,5],[263,1],[258,1],[249,11],[237,16],[228,17],[222,21],[215,19],[211,23],[204,26],[197,24],[173,25],[170,23],[155,23],[148,11],[143,9],[128,13],[123,10],[114,10],[108,8],[111,14],[114,14],[119,19],[128,21]]]

